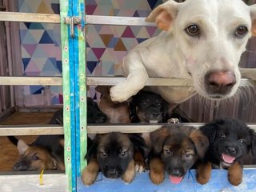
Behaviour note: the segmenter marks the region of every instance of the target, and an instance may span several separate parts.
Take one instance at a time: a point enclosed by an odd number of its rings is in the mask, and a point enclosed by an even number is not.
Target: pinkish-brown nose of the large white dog
[[[205,76],[206,87],[214,94],[225,94],[236,83],[234,73],[231,71],[214,71]]]

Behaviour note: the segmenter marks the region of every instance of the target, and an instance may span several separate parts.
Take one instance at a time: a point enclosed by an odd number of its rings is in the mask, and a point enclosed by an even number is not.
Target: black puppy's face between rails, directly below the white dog
[[[168,103],[158,94],[141,90],[130,102],[131,122],[166,122]]]

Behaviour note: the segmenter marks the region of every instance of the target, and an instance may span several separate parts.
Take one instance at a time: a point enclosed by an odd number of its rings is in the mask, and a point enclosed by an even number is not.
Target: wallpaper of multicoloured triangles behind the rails
[[[86,0],[86,14],[146,17],[162,0]],[[59,14],[58,0],[18,0],[20,12]],[[48,23],[20,22],[22,65],[25,76],[61,76],[60,26]],[[86,73],[121,74],[122,58],[139,42],[157,35],[154,26],[87,27]],[[24,94],[42,94],[42,86],[26,86]],[[94,86],[88,96],[97,99]],[[62,87],[51,87],[52,104],[62,103]]]

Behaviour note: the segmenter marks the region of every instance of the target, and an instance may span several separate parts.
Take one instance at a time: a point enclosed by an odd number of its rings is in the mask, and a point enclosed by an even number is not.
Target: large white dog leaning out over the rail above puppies
[[[246,43],[256,35],[256,5],[242,0],[172,0],[146,18],[163,30],[136,46],[123,59],[127,77],[110,90],[113,101],[123,102],[150,78],[180,78],[194,86],[151,86],[170,103],[198,93],[210,99],[229,98],[238,89],[241,73],[256,80],[256,69],[240,69]]]

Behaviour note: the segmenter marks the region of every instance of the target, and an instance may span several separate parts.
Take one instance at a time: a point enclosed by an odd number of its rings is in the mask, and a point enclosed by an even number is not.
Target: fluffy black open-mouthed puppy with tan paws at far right
[[[200,130],[209,138],[210,146],[205,161],[198,165],[198,182],[210,180],[213,166],[227,169],[230,183],[238,186],[242,182],[242,158],[250,151],[254,154],[254,130],[230,118],[218,118]]]

